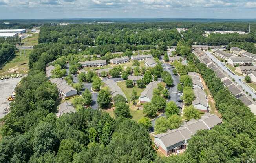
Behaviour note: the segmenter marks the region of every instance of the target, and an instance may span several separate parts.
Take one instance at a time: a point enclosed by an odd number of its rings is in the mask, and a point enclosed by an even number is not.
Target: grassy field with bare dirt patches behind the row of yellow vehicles
[[[11,75],[11,74],[27,74],[28,71],[28,59],[29,54],[32,52],[31,50],[25,50],[26,57],[24,56],[24,50],[16,52],[8,62],[0,69],[0,76]],[[1,65],[2,66],[2,65]],[[1,67],[0,66],[0,67]]]

